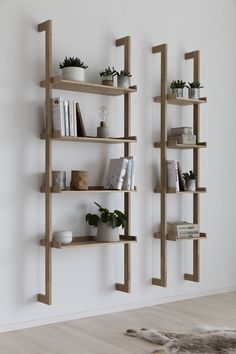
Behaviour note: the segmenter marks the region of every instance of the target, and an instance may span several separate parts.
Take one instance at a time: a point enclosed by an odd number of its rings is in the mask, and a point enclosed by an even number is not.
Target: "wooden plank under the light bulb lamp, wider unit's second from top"
[[[40,139],[46,139],[46,133],[43,132],[40,135]],[[124,144],[124,143],[136,143],[136,136],[118,137],[118,138],[98,138],[96,136],[61,136],[59,132],[53,132],[53,140],[79,142],[79,143],[103,143],[103,144]]]

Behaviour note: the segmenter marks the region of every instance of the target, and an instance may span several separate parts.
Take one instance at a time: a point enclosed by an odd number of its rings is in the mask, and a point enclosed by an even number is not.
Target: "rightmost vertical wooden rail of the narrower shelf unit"
[[[193,81],[200,81],[200,51],[194,51],[185,54],[185,59],[193,59]],[[200,106],[193,105],[193,131],[197,138],[197,144],[199,142],[200,134]],[[200,163],[199,163],[199,149],[193,149],[193,170],[197,171],[196,187],[199,187],[200,176]],[[199,216],[199,194],[193,194],[193,222],[195,224],[200,223]],[[193,241],[193,274],[184,274],[185,280],[194,282],[200,281],[200,241]]]

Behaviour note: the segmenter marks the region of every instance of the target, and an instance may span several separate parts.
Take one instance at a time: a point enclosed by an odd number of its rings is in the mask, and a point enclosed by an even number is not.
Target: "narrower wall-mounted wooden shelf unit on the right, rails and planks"
[[[161,55],[161,95],[154,97],[154,102],[160,103],[160,130],[161,137],[160,141],[154,143],[155,148],[160,150],[160,187],[155,188],[154,192],[160,194],[160,231],[154,234],[155,239],[160,240],[160,276],[152,279],[154,285],[166,287],[167,286],[167,240],[178,241],[177,235],[170,235],[167,232],[167,194],[192,194],[193,196],[193,223],[199,224],[199,195],[206,192],[206,188],[199,187],[200,180],[200,156],[199,150],[201,148],[206,148],[207,144],[199,142],[200,137],[200,105],[207,102],[206,97],[200,98],[199,100],[193,100],[188,98],[179,98],[174,94],[168,94],[167,88],[167,44],[162,44],[152,48],[152,53],[159,53]],[[185,54],[186,60],[193,60],[193,81],[200,81],[200,52],[190,52]],[[167,137],[167,107],[168,104],[178,105],[178,106],[189,106],[193,107],[193,134],[196,135],[196,144],[186,145],[178,144],[177,142],[168,141]],[[180,191],[176,192],[175,189],[168,189],[167,187],[167,171],[166,171],[166,161],[168,149],[192,149],[193,150],[193,171],[197,174],[196,178],[196,191]],[[200,244],[199,241],[206,238],[206,234],[200,233],[199,237],[186,238],[184,240],[193,241],[193,273],[185,274],[184,279],[194,282],[200,281]],[[181,239],[183,240],[183,239]]]

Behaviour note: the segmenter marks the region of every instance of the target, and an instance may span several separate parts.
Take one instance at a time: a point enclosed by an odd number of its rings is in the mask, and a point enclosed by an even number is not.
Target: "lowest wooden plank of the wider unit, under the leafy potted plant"
[[[71,247],[81,247],[81,246],[101,246],[101,245],[120,245],[125,243],[134,243],[137,241],[136,236],[122,236],[120,235],[120,241],[117,242],[97,242],[95,236],[74,236],[73,240],[69,244],[62,244],[58,241],[50,242],[50,247],[52,248],[71,248]],[[45,239],[40,240],[40,245],[45,246]]]

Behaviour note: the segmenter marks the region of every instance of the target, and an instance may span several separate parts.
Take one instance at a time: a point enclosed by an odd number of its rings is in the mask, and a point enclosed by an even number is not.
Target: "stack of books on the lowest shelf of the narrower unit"
[[[167,232],[169,234],[176,234],[177,238],[194,238],[200,236],[199,225],[186,221],[168,222]]]

